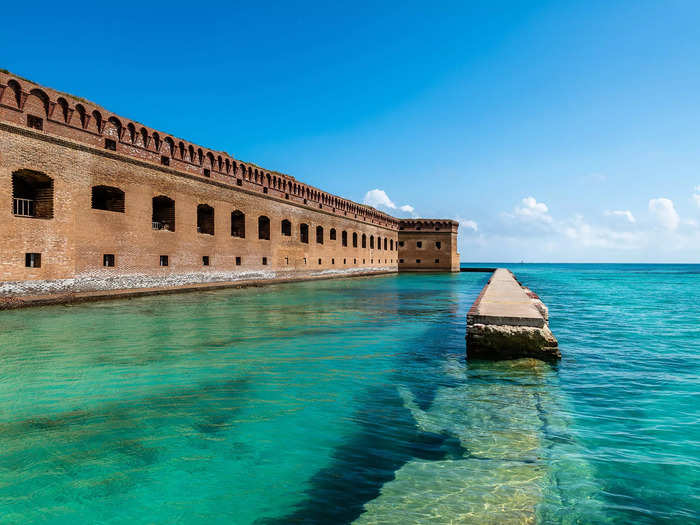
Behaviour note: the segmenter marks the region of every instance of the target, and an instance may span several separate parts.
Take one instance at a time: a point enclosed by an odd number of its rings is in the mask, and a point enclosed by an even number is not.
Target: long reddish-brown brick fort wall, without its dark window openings
[[[29,127],[29,115],[42,119],[41,130]],[[400,267],[398,219],[294,177],[130,124],[87,101],[0,72],[0,280],[60,279],[96,272],[159,275]],[[106,140],[114,141],[110,146],[116,151],[105,148]],[[52,218],[13,213],[12,175],[19,170],[33,170],[53,180]],[[92,209],[92,187],[98,185],[124,192],[124,213]],[[175,201],[174,232],[152,228],[152,199],[158,195]],[[199,204],[214,208],[214,235],[197,232]],[[244,239],[231,236],[234,210],[246,215]],[[261,215],[270,219],[270,240],[258,239]],[[291,236],[282,235],[282,220],[291,221]],[[302,223],[309,226],[308,244],[300,242]],[[323,244],[317,243],[317,226],[323,227]],[[336,230],[335,240],[330,238],[331,229]],[[343,231],[348,232],[347,247],[341,243]],[[452,236],[439,234],[449,238],[453,258],[456,227],[454,231]],[[366,248],[361,241],[353,247],[355,232],[360,239],[366,235]],[[25,253],[30,252],[42,254],[41,268],[25,267]],[[103,267],[104,254],[115,255],[114,268]],[[168,267],[160,266],[161,255],[168,256]],[[203,256],[209,257],[207,267],[202,265]],[[441,262],[439,268],[450,266]]]

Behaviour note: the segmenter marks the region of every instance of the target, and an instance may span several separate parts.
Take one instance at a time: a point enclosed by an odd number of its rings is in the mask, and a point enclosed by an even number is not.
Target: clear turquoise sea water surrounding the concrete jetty
[[[467,362],[487,274],[0,313],[0,523],[700,520],[700,266],[514,265],[562,362]]]

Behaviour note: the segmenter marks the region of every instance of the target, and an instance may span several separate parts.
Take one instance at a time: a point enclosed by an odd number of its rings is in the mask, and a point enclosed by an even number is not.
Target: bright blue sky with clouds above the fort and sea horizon
[[[699,2],[251,4],[11,2],[0,67],[464,261],[700,260]]]

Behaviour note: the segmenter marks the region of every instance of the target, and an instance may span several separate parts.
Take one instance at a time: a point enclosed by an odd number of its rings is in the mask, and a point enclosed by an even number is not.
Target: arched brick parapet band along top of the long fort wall
[[[398,219],[370,206],[326,193],[290,175],[237,160],[226,152],[202,148],[156,131],[87,100],[40,86],[4,70],[0,70],[0,120],[336,215],[399,229]]]

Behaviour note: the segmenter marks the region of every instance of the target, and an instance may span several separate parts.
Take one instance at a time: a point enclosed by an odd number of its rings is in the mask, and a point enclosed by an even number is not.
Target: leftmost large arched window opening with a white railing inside
[[[19,217],[53,218],[53,179],[32,170],[12,174],[12,213]]]

